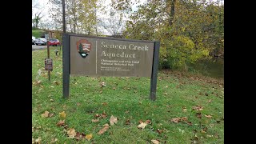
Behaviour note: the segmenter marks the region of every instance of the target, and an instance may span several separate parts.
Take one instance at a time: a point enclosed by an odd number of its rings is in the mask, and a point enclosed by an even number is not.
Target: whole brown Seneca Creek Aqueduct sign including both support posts
[[[150,77],[150,99],[156,99],[160,42],[63,35],[63,97],[70,95],[70,75]]]

